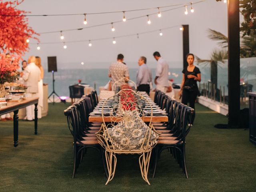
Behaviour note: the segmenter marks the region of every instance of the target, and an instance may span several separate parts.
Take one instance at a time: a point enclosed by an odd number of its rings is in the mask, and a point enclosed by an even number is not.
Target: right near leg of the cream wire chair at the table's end
[[[151,156],[151,151],[143,153],[140,158],[139,158],[139,164],[140,164],[140,172],[142,175],[142,178],[144,181],[146,181],[149,185],[148,181],[148,168],[149,168],[149,162],[150,162],[150,156]]]

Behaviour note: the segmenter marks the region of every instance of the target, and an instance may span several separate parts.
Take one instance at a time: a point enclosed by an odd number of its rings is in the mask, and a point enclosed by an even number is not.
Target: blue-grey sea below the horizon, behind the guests
[[[130,79],[136,82],[136,72],[137,68],[130,68],[129,75]],[[152,78],[155,77],[155,69],[152,70]],[[225,72],[220,70],[221,72]],[[44,73],[44,83],[48,83],[48,92],[52,92],[52,73],[45,71]],[[202,82],[208,82],[210,79],[210,71],[208,68],[201,69]],[[78,80],[81,79],[82,83],[90,84],[94,87],[96,85],[96,90],[98,91],[99,86],[105,86],[110,80],[108,77],[108,69],[60,69],[54,72],[55,79],[55,91],[59,96],[69,96],[68,86],[77,84]],[[180,84],[182,81],[182,68],[172,68],[170,69],[169,79],[173,79],[174,83]],[[222,86],[227,85],[227,78],[225,79],[224,74],[219,75],[219,84]]]

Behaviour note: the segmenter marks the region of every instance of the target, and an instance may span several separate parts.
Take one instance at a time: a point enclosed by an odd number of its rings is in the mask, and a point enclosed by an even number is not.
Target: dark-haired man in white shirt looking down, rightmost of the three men
[[[156,90],[160,90],[164,93],[166,93],[168,84],[168,72],[169,72],[169,66],[166,60],[164,60],[159,52],[154,52],[153,54],[154,58],[157,60],[156,65],[156,77],[155,77],[155,84],[156,84]]]

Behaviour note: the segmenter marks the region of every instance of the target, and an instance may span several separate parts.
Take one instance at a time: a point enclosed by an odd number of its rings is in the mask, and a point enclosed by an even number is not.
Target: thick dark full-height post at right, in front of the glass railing
[[[228,126],[237,128],[240,117],[239,0],[228,0]]]

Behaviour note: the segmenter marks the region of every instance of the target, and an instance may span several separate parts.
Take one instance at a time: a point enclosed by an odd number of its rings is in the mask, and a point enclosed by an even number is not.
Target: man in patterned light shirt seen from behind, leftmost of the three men
[[[124,56],[122,54],[118,54],[117,56],[117,62],[112,63],[108,70],[108,76],[111,77],[111,84],[113,85],[116,81],[120,80],[123,77],[126,77],[129,79],[129,71],[128,67],[124,62]],[[122,83],[122,82],[121,82]],[[116,86],[120,86],[120,84],[115,84],[114,90],[116,89]]]

